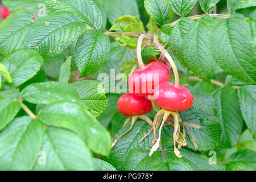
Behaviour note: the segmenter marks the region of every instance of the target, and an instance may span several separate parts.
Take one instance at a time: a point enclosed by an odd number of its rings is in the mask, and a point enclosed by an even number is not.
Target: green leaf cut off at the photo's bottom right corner
[[[256,170],[256,152],[251,150],[241,150],[232,154],[229,163],[226,164],[228,171]]]

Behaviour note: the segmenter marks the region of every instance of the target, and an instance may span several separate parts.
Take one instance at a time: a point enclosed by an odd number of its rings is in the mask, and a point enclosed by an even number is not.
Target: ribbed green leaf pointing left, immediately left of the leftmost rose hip
[[[72,85],[93,115],[99,116],[106,109],[108,98],[105,96],[103,86],[97,81],[76,81]]]

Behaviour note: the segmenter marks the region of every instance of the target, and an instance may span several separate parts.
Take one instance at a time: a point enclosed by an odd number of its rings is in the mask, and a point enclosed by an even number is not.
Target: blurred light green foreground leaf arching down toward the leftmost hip
[[[74,131],[93,152],[109,155],[110,134],[93,115],[81,106],[73,102],[55,102],[40,110],[38,118],[45,125]]]

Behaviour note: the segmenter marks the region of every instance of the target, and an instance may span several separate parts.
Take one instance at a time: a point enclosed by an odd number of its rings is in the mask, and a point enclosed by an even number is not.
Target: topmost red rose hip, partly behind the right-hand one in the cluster
[[[158,74],[158,81],[155,80],[155,76],[157,76],[155,74]],[[131,93],[144,97],[154,94],[155,87],[168,81],[169,78],[170,71],[167,66],[159,61],[154,61],[147,64],[144,69],[136,69],[131,73],[128,85]]]

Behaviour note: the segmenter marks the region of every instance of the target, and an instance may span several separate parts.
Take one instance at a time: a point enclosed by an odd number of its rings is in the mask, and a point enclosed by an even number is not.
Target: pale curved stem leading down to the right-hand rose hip
[[[158,36],[154,35],[154,43],[156,45],[156,48],[159,49],[160,52],[167,58],[169,63],[171,64],[172,70],[174,71],[174,77],[175,77],[175,87],[179,87],[180,81],[179,81],[179,72],[177,71],[177,67],[174,63],[174,60],[172,60],[172,57],[168,53],[166,49],[162,46],[162,44],[158,41]]]

